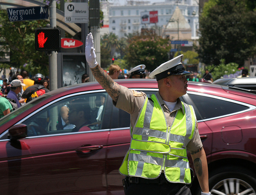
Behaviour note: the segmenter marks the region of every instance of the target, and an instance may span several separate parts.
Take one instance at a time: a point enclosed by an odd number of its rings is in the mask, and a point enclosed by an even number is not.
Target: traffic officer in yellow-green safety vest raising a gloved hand
[[[96,62],[92,34],[85,55],[96,80],[117,108],[130,113],[131,144],[120,166],[126,195],[191,195],[186,150],[190,151],[202,195],[210,195],[206,154],[192,106],[180,101],[186,94],[186,75],[180,55],[156,68],[159,91],[146,95],[118,85]],[[147,116],[147,117],[144,117]]]

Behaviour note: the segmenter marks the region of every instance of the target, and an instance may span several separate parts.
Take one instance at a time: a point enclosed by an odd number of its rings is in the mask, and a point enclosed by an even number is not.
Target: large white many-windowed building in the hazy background
[[[101,9],[104,12],[105,27],[118,37],[124,37],[129,33],[140,33],[142,29],[147,28],[155,29],[158,35],[162,37],[168,35],[174,40],[178,37],[183,40],[198,39],[198,0],[165,0],[165,2],[153,4],[149,1],[130,0],[126,5],[118,5],[117,2],[116,0],[112,0],[112,3],[101,0]],[[158,11],[158,22],[142,24],[142,12],[151,11]],[[102,29],[104,33],[106,33],[106,28]],[[183,36],[183,33],[186,36]]]

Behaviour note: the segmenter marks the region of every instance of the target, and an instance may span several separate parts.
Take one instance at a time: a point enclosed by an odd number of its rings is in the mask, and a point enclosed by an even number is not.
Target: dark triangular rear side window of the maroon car
[[[194,107],[197,120],[206,120],[248,109],[247,106],[223,99],[194,94],[188,94],[188,96],[191,102],[187,103]]]

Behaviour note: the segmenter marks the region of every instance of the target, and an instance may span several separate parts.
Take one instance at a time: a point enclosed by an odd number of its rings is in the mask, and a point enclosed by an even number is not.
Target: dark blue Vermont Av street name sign
[[[10,22],[48,19],[48,6],[7,8]]]

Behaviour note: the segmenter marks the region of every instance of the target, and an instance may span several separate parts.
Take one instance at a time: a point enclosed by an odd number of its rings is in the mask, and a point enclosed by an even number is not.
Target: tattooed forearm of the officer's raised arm
[[[91,69],[92,74],[100,85],[106,90],[110,97],[117,102],[120,94],[120,85],[114,82],[111,77],[102,68],[97,65],[95,68]]]

